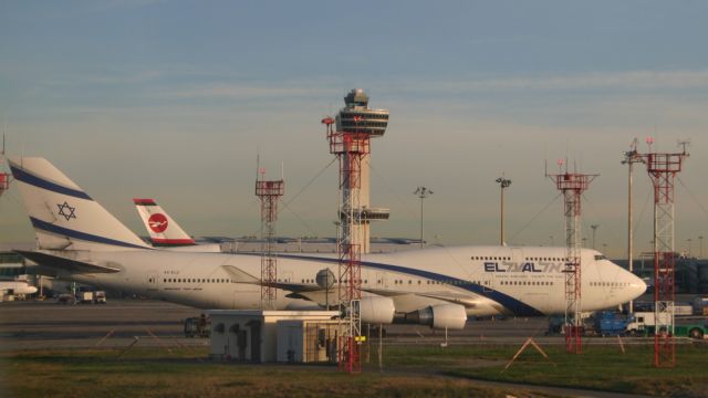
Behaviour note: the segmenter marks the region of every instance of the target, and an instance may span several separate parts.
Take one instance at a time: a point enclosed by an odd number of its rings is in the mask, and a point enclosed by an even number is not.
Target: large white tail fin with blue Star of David
[[[39,249],[149,248],[44,158],[9,160]]]

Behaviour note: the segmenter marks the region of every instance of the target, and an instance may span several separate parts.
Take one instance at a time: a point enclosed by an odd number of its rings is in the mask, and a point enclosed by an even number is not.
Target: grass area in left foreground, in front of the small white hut
[[[135,348],[118,355],[118,350],[92,349],[4,357],[3,389],[9,397],[504,396],[498,388],[435,375],[410,378],[364,371],[350,376],[335,366],[215,363],[205,359],[206,349]]]

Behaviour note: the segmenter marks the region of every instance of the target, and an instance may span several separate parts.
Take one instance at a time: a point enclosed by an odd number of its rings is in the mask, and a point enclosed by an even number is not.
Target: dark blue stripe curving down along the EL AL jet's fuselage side
[[[260,255],[260,254],[258,254]],[[308,260],[308,261],[321,261],[321,262],[327,262],[327,263],[339,263],[340,260],[339,259],[323,259],[323,258],[319,258],[319,256],[310,256],[310,255],[293,255],[293,254],[278,254],[279,258],[285,258],[285,259],[292,259],[292,260]],[[501,292],[498,292],[496,290],[491,290],[486,292],[485,291],[485,286],[481,286],[477,283],[471,283],[469,281],[465,281],[465,280],[460,280],[457,277],[452,277],[452,276],[448,276],[448,275],[444,275],[444,274],[439,274],[439,273],[435,273],[435,272],[429,272],[429,271],[423,271],[423,270],[417,270],[417,269],[413,269],[413,268],[408,268],[408,266],[402,266],[402,265],[392,265],[392,264],[384,264],[384,263],[376,263],[376,262],[371,262],[371,261],[362,261],[361,262],[362,265],[364,266],[368,266],[368,268],[373,268],[373,269],[379,269],[379,270],[386,270],[386,271],[393,271],[393,272],[400,272],[400,273],[407,273],[407,274],[412,274],[412,275],[417,275],[420,277],[425,277],[425,279],[429,279],[433,281],[439,281],[446,284],[450,284],[450,282],[454,283],[459,283],[459,284],[454,284],[456,287],[461,287],[465,289],[467,291],[470,291],[472,293],[479,294],[483,297],[487,297],[489,300],[493,300],[497,303],[503,305],[507,310],[511,311],[514,315],[519,315],[519,316],[539,316],[539,315],[543,315],[542,312],[540,312],[539,310],[508,295],[508,294],[503,294]]]

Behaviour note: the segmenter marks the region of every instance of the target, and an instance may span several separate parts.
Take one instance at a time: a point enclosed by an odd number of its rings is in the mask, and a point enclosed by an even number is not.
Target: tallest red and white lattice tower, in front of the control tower
[[[335,132],[334,119],[322,119],[326,126],[330,153],[340,160],[340,233],[337,240],[339,302],[344,325],[339,344],[340,370],[358,373],[362,369],[360,343],[362,338],[361,230],[362,208],[360,201],[362,159],[369,153],[369,135],[364,133]]]

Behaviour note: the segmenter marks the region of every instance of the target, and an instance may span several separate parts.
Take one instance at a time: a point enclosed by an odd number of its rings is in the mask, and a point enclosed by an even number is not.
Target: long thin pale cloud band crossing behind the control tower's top
[[[249,100],[283,97],[333,97],[342,94],[342,82],[327,80],[302,80],[298,82],[241,83],[232,82],[233,76],[209,75],[208,83],[183,84],[183,87],[157,92],[162,98],[179,100]],[[230,82],[231,81],[231,82]],[[531,91],[556,91],[582,93],[587,91],[642,92],[642,91],[700,91],[708,88],[706,71],[627,71],[593,72],[573,75],[470,77],[458,76],[448,80],[414,80],[406,83],[396,80],[367,81],[365,86],[376,87],[381,93],[395,95],[428,94],[458,95],[475,93],[511,93]],[[427,100],[426,100],[427,98]],[[415,100],[415,98],[414,98]],[[438,101],[418,96],[417,101]],[[408,98],[407,101],[410,101]]]

